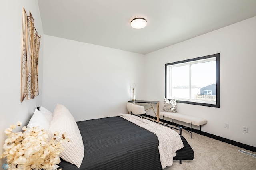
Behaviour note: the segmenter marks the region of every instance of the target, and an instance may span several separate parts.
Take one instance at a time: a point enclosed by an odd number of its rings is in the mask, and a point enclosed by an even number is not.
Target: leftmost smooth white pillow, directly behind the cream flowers
[[[41,129],[48,130],[50,127],[50,122],[46,117],[37,109],[33,112],[34,114],[32,115],[29,123],[28,123],[28,128],[32,127],[37,127],[39,126]]]

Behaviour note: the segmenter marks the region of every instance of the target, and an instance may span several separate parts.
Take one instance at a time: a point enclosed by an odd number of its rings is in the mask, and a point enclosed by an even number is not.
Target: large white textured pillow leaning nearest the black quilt
[[[56,136],[57,141],[59,141],[62,138],[62,134],[66,132],[67,136],[70,138],[70,142],[64,142],[62,144],[64,151],[60,154],[60,157],[80,168],[84,158],[82,136],[74,117],[63,105],[57,104],[55,107],[49,131],[52,136],[54,132],[59,133],[58,136]]]

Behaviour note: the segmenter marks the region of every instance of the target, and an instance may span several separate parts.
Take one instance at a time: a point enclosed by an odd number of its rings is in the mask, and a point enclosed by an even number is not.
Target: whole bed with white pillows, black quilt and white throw
[[[53,113],[44,107],[35,110],[28,127],[37,126],[48,130],[56,141],[63,134],[70,139],[62,143],[58,169],[160,170],[173,160],[181,163],[194,158],[181,134],[131,114],[76,122],[66,107],[57,104]],[[174,137],[166,137],[169,133]]]

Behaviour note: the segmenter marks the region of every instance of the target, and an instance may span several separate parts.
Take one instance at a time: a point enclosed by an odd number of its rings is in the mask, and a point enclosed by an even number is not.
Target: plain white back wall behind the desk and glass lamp
[[[43,106],[66,106],[76,121],[127,113],[130,84],[144,94],[144,55],[44,36]]]

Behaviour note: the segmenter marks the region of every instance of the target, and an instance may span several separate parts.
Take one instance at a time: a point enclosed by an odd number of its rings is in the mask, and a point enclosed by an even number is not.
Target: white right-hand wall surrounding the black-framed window
[[[256,17],[147,54],[145,98],[160,100],[161,111],[165,64],[215,53],[220,53],[220,108],[178,103],[178,112],[206,118],[204,132],[256,147]]]

